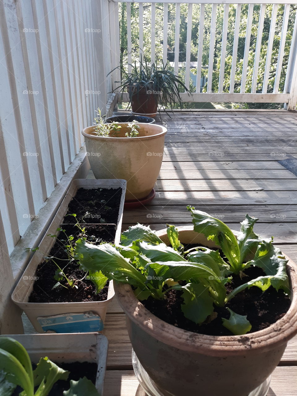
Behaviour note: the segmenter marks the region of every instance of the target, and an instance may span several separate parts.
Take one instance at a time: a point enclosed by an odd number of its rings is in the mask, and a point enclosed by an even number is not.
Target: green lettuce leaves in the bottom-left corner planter
[[[47,396],[57,381],[67,381],[68,376],[69,371],[61,369],[47,357],[40,358],[36,369],[32,370],[30,357],[23,345],[13,338],[0,337],[1,396],[11,396],[17,386],[23,388],[20,396]],[[63,396],[84,396],[86,392],[88,396],[99,396],[95,385],[84,377],[70,381],[70,388],[63,392]]]

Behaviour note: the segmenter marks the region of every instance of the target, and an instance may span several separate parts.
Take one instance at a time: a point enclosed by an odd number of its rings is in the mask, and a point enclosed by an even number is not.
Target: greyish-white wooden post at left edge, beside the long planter
[[[11,301],[14,281],[0,213],[0,334],[24,332],[21,310]]]

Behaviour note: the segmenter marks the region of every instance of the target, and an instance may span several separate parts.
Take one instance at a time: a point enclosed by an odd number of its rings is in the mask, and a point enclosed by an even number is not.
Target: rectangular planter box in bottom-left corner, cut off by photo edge
[[[35,364],[44,356],[48,356],[58,366],[59,363],[96,363],[98,369],[95,386],[99,394],[103,394],[108,350],[108,341],[104,335],[98,333],[17,334],[0,337],[11,337],[19,341],[26,348],[31,362]]]

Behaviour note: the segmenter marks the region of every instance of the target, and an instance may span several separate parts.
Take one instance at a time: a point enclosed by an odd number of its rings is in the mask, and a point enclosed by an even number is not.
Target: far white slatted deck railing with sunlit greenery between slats
[[[145,0],[139,0],[134,2],[131,0],[126,2],[120,0],[119,2],[110,2],[111,15],[117,14],[118,4],[126,4],[126,23],[127,23],[127,61],[131,63],[139,57],[144,49],[144,25],[146,28],[150,25],[150,56],[151,59],[155,59],[156,48],[162,44],[163,61],[166,63],[168,59],[168,6],[171,6],[171,12],[175,12],[175,40],[174,40],[174,59],[172,66],[177,73],[180,69],[180,53],[179,46],[181,42],[181,31],[180,31],[180,18],[181,18],[181,4],[184,3],[172,3],[170,1],[157,2],[151,1],[149,3]],[[135,44],[135,29],[134,34],[131,33],[131,6],[133,3],[134,13],[138,13],[138,37],[136,38],[137,43]],[[261,4],[261,7],[259,6]],[[144,5],[146,8],[150,8],[147,13],[146,19],[144,20]],[[157,5],[157,7],[156,7]],[[257,6],[257,7],[256,7]],[[219,10],[220,7],[220,10]],[[248,7],[246,21],[244,20],[243,7]],[[270,8],[269,8],[270,7]],[[156,10],[157,8],[157,10]],[[195,8],[195,9],[194,9]],[[222,10],[223,8],[223,10]],[[230,23],[230,11],[233,8],[236,17],[234,23]],[[234,11],[235,8],[235,11]],[[257,10],[256,10],[257,8]],[[267,10],[271,12],[267,12]],[[172,11],[173,10],[173,11]],[[175,11],[174,11],[175,10]],[[158,12],[158,14],[157,14]],[[193,92],[192,97],[189,97],[187,93],[181,93],[181,98],[185,102],[255,102],[255,103],[270,103],[278,102],[285,103],[285,109],[295,109],[297,103],[297,13],[296,13],[296,2],[287,3],[285,1],[269,1],[267,4],[263,2],[257,2],[254,4],[251,0],[213,0],[196,2],[195,0],[187,2],[187,43],[186,43],[186,56],[183,62],[185,69],[185,85],[189,87],[190,82],[190,70],[191,58],[193,58],[191,40],[193,39],[193,23],[192,17],[195,13],[199,13],[199,29],[198,37],[198,53],[196,56],[196,90]],[[222,20],[218,21],[219,12],[223,15]],[[266,12],[266,14],[265,14]],[[160,13],[162,14],[160,16]],[[210,31],[206,31],[205,20],[211,13]],[[156,25],[156,15],[158,15],[158,25]],[[293,15],[293,16],[292,16]],[[112,69],[120,64],[120,34],[118,29],[118,21],[114,19],[110,23],[116,23],[114,26],[114,36],[112,37]],[[289,30],[288,22],[290,18]],[[160,23],[161,21],[161,23]],[[276,32],[276,21],[278,26],[282,26],[280,32]],[[121,21],[120,21],[121,23]],[[263,27],[269,30],[268,40],[264,42],[263,38]],[[221,24],[221,25],[220,25]],[[161,25],[161,27],[160,27]],[[220,25],[222,34],[220,36],[221,49],[219,53],[220,62],[217,69],[214,69],[213,58],[216,51],[215,45],[215,33],[216,29]],[[244,29],[242,26],[244,25]],[[163,29],[163,43],[156,42],[156,29]],[[137,30],[137,29],[136,29]],[[292,32],[292,34],[291,34]],[[233,36],[232,42],[230,42],[230,36]],[[239,35],[244,36],[244,53],[243,59],[238,59],[238,38]],[[277,39],[276,39],[277,38]],[[251,39],[255,42],[254,49],[251,48]],[[132,40],[134,42],[132,43]],[[160,40],[159,40],[160,41]],[[132,53],[132,45],[134,51]],[[226,67],[226,49],[232,48],[232,63],[230,70]],[[276,47],[277,46],[277,47]],[[267,49],[266,49],[267,47]],[[289,47],[289,56],[284,65],[285,49]],[[136,50],[137,48],[137,50]],[[202,50],[206,48],[208,52],[208,62],[202,59]],[[259,70],[259,63],[263,63],[263,49],[265,48],[264,56],[266,58],[264,72],[261,73]],[[147,49],[148,50],[148,49]],[[272,76],[272,51],[277,50],[277,66],[276,70],[273,70]],[[230,50],[229,50],[230,52]],[[251,61],[252,56],[252,61]],[[262,58],[261,58],[262,57]],[[252,62],[252,64],[251,64]],[[207,82],[205,88],[200,89],[200,78],[202,76],[202,70],[206,68]],[[236,81],[236,70],[241,70],[240,81]],[[128,67],[128,71],[131,71],[131,67]],[[219,74],[217,87],[213,86],[214,75]],[[285,73],[286,78],[282,86],[280,86],[280,77]],[[273,86],[268,83],[273,78]],[[237,77],[238,79],[238,77]],[[117,84],[115,81],[120,80],[118,71],[115,71],[112,75],[112,87],[115,88]],[[230,82],[226,82],[226,81]],[[249,84],[247,84],[249,80]],[[284,80],[284,79],[283,79]],[[236,89],[235,89],[235,88]],[[128,101],[128,95],[124,94],[123,97],[118,100]]]

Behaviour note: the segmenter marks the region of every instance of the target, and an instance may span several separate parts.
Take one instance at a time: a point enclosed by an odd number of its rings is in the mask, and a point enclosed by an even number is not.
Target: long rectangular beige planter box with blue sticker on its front
[[[78,188],[122,188],[122,196],[120,201],[119,215],[117,230],[115,236],[115,243],[120,242],[121,227],[122,227],[122,216],[124,209],[124,200],[126,193],[126,180],[116,180],[116,179],[76,179],[74,180],[66,196],[57,211],[53,221],[51,222],[44,238],[39,244],[39,250],[37,250],[32,259],[29,262],[28,267],[25,269],[23,276],[17,283],[13,293],[12,300],[18,305],[28,316],[30,322],[34,326],[34,329],[38,333],[44,333],[41,325],[39,324],[37,318],[44,316],[54,316],[68,313],[81,313],[81,312],[94,312],[99,315],[105,321],[105,315],[107,312],[107,307],[114,297],[113,282],[109,282],[109,291],[107,295],[107,300],[105,301],[91,301],[82,303],[29,303],[29,296],[33,289],[34,276],[39,263],[42,262],[44,256],[46,256],[53,245],[55,244],[56,238],[51,238],[48,234],[55,234],[57,228],[63,222],[63,218],[68,210],[68,204],[73,196],[75,196]]]

